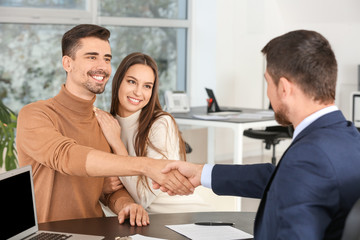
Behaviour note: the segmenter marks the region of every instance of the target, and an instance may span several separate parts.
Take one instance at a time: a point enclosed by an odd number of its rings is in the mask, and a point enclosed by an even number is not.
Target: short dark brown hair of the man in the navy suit
[[[261,52],[276,85],[286,77],[315,101],[335,100],[337,62],[330,43],[321,34],[308,30],[288,32],[272,39]]]

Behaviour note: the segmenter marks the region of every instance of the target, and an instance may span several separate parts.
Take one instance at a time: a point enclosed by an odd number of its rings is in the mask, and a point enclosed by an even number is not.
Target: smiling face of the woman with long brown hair
[[[128,117],[149,103],[154,81],[155,75],[149,66],[135,64],[127,70],[118,93],[120,117]]]

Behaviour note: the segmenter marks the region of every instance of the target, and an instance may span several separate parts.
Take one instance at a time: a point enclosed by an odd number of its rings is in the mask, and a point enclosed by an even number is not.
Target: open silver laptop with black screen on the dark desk
[[[65,235],[59,239],[100,240],[102,236],[39,231],[36,217],[34,184],[31,166],[17,168],[0,174],[1,220],[0,239],[38,239],[38,235]]]

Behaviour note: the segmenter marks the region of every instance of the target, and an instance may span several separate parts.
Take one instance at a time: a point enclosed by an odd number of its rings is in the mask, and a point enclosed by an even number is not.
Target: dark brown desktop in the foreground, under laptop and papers
[[[168,229],[165,225],[187,224],[197,221],[226,221],[235,223],[234,227],[253,234],[255,213],[253,212],[196,212],[175,214],[152,214],[150,225],[146,227],[132,227],[126,221],[120,225],[117,217],[87,218],[57,221],[39,224],[40,230],[92,234],[105,236],[105,239],[114,240],[115,237],[124,237],[141,234],[148,237],[164,239],[187,239],[186,237]]]

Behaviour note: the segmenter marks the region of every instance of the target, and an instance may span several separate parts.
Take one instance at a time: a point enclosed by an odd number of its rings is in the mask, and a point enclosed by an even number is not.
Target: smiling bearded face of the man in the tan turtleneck
[[[70,59],[67,81],[71,81],[80,96],[102,93],[111,74],[110,44],[95,37],[80,42],[75,58]]]

